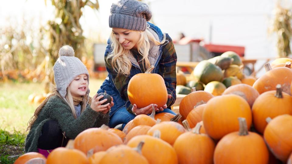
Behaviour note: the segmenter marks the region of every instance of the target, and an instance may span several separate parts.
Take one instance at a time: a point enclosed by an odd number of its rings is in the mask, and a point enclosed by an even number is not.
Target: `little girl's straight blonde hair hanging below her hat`
[[[71,112],[74,116],[74,118],[77,118],[77,114],[74,108],[74,102],[73,102],[73,97],[72,94],[70,92],[69,87],[67,87],[67,94],[65,96],[65,100],[67,102],[67,104],[69,105],[69,107],[71,108]],[[59,92],[57,91],[57,89],[54,89],[54,92],[57,94],[57,96],[59,96],[61,99],[63,99],[63,97],[59,94]],[[83,97],[83,100],[81,102],[81,112],[82,113],[85,109],[86,109],[86,105],[87,105],[87,100]]]

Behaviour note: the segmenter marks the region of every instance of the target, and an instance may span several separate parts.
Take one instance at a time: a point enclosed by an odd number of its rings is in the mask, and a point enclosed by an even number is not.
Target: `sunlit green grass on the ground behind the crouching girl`
[[[90,79],[90,96],[93,97],[103,80]],[[13,163],[24,154],[27,122],[39,104],[30,103],[30,94],[42,94],[41,83],[0,83],[0,163]],[[14,156],[16,155],[16,156]]]

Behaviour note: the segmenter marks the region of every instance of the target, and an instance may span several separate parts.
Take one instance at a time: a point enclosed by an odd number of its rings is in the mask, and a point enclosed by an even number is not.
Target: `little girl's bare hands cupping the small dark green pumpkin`
[[[96,111],[96,112],[102,112],[103,114],[106,114],[110,107],[108,108],[108,106],[110,105],[109,103],[102,105],[104,102],[107,101],[107,99],[104,99],[102,101],[99,101],[99,99],[101,99],[103,97],[103,95],[97,97],[98,94],[95,94],[92,98],[91,101],[91,105],[90,107],[92,108],[92,110]]]

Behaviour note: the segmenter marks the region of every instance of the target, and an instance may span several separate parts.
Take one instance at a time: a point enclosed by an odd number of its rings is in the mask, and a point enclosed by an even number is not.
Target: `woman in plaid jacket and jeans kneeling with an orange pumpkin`
[[[160,74],[168,92],[168,101],[157,112],[175,114],[169,108],[176,100],[176,51],[168,34],[147,22],[151,11],[147,4],[137,0],[120,0],[110,9],[109,27],[112,33],[105,52],[109,73],[98,93],[106,91],[113,97],[109,127],[122,129],[138,114],[150,114],[152,105],[137,108],[127,95],[129,80],[137,73],[144,73],[154,65],[152,73]],[[145,86],[151,87],[151,86]]]

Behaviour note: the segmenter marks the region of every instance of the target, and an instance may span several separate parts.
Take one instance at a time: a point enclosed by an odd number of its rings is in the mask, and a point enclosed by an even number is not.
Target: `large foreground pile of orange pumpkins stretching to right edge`
[[[252,86],[236,84],[219,96],[193,89],[177,115],[155,114],[153,107],[151,115],[136,116],[123,131],[89,128],[47,158],[27,153],[15,163],[292,164],[291,62],[266,64],[267,72]]]

